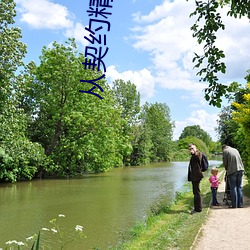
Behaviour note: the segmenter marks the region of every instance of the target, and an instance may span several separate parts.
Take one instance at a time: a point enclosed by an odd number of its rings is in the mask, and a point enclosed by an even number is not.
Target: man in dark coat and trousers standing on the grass
[[[199,213],[202,211],[200,181],[203,178],[201,172],[201,159],[202,153],[197,150],[196,146],[191,143],[188,145],[191,153],[190,163],[188,167],[188,181],[192,182],[193,195],[194,195],[194,209],[191,214]]]

